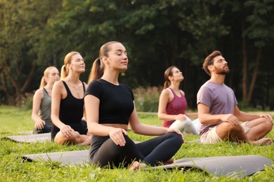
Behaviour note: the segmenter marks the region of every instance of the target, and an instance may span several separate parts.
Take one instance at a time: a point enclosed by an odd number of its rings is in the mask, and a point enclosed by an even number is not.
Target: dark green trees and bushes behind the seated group
[[[85,59],[86,82],[100,46],[116,40],[129,52],[120,80],[133,88],[161,87],[164,70],[176,65],[195,109],[209,79],[202,62],[221,50],[238,101],[274,109],[274,0],[0,0],[0,7],[0,104],[20,103],[46,66],[60,69],[72,50]]]

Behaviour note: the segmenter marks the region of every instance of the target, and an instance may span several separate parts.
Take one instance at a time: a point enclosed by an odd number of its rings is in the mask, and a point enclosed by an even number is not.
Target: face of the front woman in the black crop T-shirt
[[[122,43],[112,43],[110,48],[111,50],[108,52],[108,57],[105,57],[105,64],[109,64],[112,69],[118,69],[120,71],[126,70],[129,59],[124,45],[122,45]]]

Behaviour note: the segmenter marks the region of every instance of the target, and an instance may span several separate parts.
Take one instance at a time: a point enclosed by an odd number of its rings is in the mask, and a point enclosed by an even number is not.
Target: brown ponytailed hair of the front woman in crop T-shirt
[[[99,50],[99,57],[95,59],[91,67],[91,73],[89,73],[89,81],[91,83],[93,80],[98,80],[103,76],[105,65],[101,60],[103,56],[108,57],[108,52],[110,52],[110,45],[112,43],[119,43],[118,41],[110,41],[101,46]]]

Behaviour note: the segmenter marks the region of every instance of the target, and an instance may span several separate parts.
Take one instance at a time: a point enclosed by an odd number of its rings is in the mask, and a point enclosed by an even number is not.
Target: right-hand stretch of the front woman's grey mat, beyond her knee
[[[244,177],[263,171],[273,161],[261,155],[218,156],[209,158],[182,158],[174,164],[152,169],[199,169],[215,176]]]

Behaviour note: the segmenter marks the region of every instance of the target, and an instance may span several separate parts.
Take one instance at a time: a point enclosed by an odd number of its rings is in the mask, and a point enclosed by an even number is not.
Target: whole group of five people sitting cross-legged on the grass
[[[229,69],[221,52],[212,52],[204,61],[203,69],[211,78],[197,93],[198,113],[185,113],[187,102],[179,89],[183,73],[176,66],[164,72],[158,110],[163,127],[140,122],[131,88],[118,80],[128,64],[124,45],[111,41],[101,46],[88,85],[79,79],[85,71],[79,52],[65,56],[60,76],[56,67],[48,67],[34,94],[34,133],[51,132],[56,144],[90,146],[93,165],[129,170],[172,163],[183,144],[183,133],[200,134],[202,144],[272,144],[271,139],[263,138],[272,130],[271,116],[240,111],[233,90],[224,84]],[[199,118],[197,123],[191,120],[194,118]],[[136,144],[128,127],[136,134],[158,137]]]

